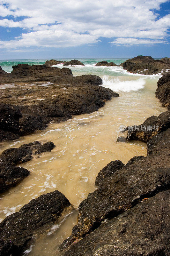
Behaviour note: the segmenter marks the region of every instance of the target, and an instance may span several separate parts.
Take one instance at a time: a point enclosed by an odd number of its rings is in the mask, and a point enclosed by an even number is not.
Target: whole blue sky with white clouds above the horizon
[[[170,1],[0,0],[0,59],[170,57]]]

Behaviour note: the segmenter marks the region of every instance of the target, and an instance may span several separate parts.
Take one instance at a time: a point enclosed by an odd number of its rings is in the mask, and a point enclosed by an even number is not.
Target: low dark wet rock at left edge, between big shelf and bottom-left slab
[[[55,147],[54,143],[48,141],[41,145],[39,141],[24,144],[19,148],[9,148],[0,155],[0,193],[16,186],[25,177],[29,171],[15,165],[25,163],[42,152],[51,151]]]

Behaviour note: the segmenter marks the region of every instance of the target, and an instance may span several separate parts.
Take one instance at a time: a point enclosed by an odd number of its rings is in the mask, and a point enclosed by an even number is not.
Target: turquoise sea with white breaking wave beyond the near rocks
[[[55,59],[55,58],[54,58]],[[46,60],[50,59],[29,59],[29,60],[0,60],[0,66],[6,71],[11,72],[13,65],[26,63],[28,65],[40,65],[44,64]],[[57,59],[63,61],[70,61],[71,59]],[[139,74],[133,74],[126,72],[122,67],[100,67],[95,66],[99,61],[106,60],[108,62],[113,61],[115,64],[119,65],[128,58],[111,58],[111,59],[78,59],[85,66],[67,66],[72,70],[74,76],[80,76],[84,74],[92,74],[100,76],[103,79],[103,84],[105,87],[112,89],[115,92],[124,91],[137,91],[144,88],[146,83],[146,78],[159,78],[159,75],[145,76]],[[62,68],[63,64],[55,65],[55,67]]]

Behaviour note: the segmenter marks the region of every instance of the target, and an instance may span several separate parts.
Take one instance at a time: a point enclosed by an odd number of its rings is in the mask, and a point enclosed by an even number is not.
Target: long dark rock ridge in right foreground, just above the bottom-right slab
[[[81,202],[78,225],[63,247],[92,232],[101,221],[115,218],[145,197],[170,187],[170,129],[149,140],[147,148],[146,157],[134,157],[122,169],[114,170]]]

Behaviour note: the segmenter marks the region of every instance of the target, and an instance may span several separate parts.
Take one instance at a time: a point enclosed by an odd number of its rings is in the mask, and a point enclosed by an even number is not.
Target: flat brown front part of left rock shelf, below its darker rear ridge
[[[23,84],[2,89],[0,141],[18,139],[19,136],[43,130],[48,122],[92,113],[113,96],[119,96],[108,88],[96,85],[101,83],[99,76],[83,75],[74,77],[72,84]]]

